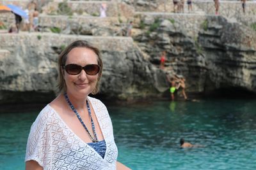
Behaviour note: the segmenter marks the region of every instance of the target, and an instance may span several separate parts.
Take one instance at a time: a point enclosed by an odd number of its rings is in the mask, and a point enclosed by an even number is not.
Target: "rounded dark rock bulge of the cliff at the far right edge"
[[[223,17],[205,20],[198,41],[209,71],[205,90],[236,87],[256,92],[256,34]]]

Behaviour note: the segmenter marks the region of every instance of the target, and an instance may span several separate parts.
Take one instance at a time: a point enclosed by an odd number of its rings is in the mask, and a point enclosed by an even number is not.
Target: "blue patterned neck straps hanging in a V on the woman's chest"
[[[86,100],[86,105],[87,105],[87,110],[89,113],[89,117],[91,118],[91,123],[92,123],[92,131],[93,131],[93,135],[95,136],[95,138],[92,137],[92,135],[90,134],[90,132],[88,131],[86,125],[84,124],[83,120],[81,119],[80,115],[77,113],[76,109],[74,108],[74,106],[71,104],[71,102],[68,99],[67,93],[64,94],[66,101],[68,103],[68,105],[70,106],[70,108],[74,111],[74,113],[76,113],[77,118],[79,119],[79,121],[81,122],[81,124],[83,125],[84,129],[86,130],[86,132],[89,134],[90,138],[92,139],[93,142],[98,142],[98,138],[96,135],[96,131],[95,131],[95,126],[92,120],[92,114],[91,114],[91,109],[88,103],[88,100]]]

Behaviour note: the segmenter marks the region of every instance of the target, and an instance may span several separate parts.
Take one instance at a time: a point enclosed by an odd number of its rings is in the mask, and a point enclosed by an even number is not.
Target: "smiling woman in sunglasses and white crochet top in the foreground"
[[[129,169],[116,162],[108,110],[89,97],[99,91],[102,59],[86,41],[71,43],[58,60],[60,94],[31,126],[26,169]]]

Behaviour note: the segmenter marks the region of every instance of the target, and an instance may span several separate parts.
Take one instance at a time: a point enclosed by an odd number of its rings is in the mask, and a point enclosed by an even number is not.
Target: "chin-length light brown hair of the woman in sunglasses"
[[[100,81],[100,78],[102,76],[102,69],[103,69],[102,59],[101,59],[101,56],[100,56],[100,51],[95,46],[92,46],[87,41],[83,41],[83,40],[74,41],[73,43],[68,45],[67,48],[65,48],[60,53],[59,59],[58,59],[58,81],[57,81],[58,90],[59,90],[59,92],[63,92],[63,91],[65,92],[67,90],[67,85],[66,85],[66,82],[65,82],[64,77],[63,77],[63,73],[64,73],[63,66],[65,66],[68,53],[73,48],[76,48],[76,47],[88,48],[88,49],[92,50],[97,55],[97,58],[98,58],[97,60],[98,60],[99,66],[100,66],[100,71],[98,73],[98,79],[97,79],[96,86],[92,91],[92,94],[97,94],[97,92],[99,92],[99,81]]]

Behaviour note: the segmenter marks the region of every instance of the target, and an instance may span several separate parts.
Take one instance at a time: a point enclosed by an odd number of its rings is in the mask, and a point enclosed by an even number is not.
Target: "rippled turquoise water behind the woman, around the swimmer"
[[[118,160],[132,169],[256,169],[256,100],[108,105]],[[0,169],[24,169],[39,110],[0,114]],[[201,148],[179,148],[184,138]]]

